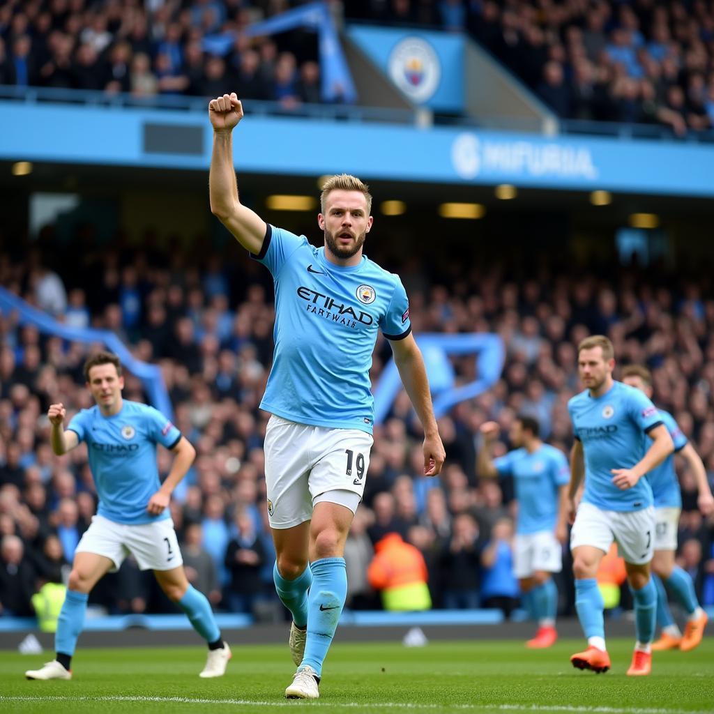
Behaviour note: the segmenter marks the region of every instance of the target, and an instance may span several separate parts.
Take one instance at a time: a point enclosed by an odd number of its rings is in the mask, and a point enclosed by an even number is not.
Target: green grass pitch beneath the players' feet
[[[287,632],[286,632],[287,635]],[[51,658],[0,652],[0,711],[18,714],[116,712],[221,714],[300,711],[555,712],[680,714],[714,712],[714,638],[690,653],[655,653],[650,677],[625,676],[631,640],[609,640],[613,669],[574,670],[580,640],[529,651],[518,641],[474,640],[341,644],[328,657],[321,698],[283,698],[293,673],[287,645],[232,643],[223,678],[202,680],[205,650],[116,648],[78,650],[70,682],[30,682],[26,669]]]

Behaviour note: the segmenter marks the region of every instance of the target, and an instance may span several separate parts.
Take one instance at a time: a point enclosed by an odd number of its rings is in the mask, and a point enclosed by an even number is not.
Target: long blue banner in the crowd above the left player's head
[[[34,325],[40,332],[48,335],[55,335],[71,342],[103,344],[119,356],[126,369],[141,379],[151,405],[156,407],[166,418],[174,418],[174,410],[171,408],[171,400],[166,391],[161,368],[136,359],[113,332],[63,325],[2,287],[0,287],[0,312],[16,312],[21,325]]]

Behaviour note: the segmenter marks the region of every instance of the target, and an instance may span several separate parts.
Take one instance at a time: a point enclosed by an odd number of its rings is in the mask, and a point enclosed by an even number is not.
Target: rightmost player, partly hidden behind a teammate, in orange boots
[[[628,365],[622,370],[622,378],[625,384],[652,398],[652,374],[648,368],[636,364]],[[675,452],[685,459],[697,483],[699,509],[704,516],[709,516],[714,511],[714,498],[704,464],[673,416],[662,409],[659,413],[672,437]],[[662,635],[653,643],[652,649],[679,649],[688,652],[702,641],[708,617],[697,601],[691,576],[676,565],[674,560],[679,514],[682,511],[682,494],[675,471],[674,456],[668,456],[659,466],[648,472],[647,480],[652,487],[655,501],[655,555],[652,559],[652,570],[657,586],[657,623],[662,628]],[[663,580],[687,613],[684,635],[670,611]]]

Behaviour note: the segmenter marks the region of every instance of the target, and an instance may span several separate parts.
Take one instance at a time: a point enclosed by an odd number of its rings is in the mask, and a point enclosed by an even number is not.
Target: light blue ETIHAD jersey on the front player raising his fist
[[[411,332],[398,276],[366,256],[356,266],[337,266],[305,236],[270,225],[253,258],[275,284],[275,354],[261,409],[301,424],[372,433],[377,331],[389,340]]]

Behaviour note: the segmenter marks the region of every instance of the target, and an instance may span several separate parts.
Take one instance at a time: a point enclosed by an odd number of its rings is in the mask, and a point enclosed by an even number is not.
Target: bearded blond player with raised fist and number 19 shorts
[[[318,215],[325,246],[313,248],[238,199],[232,145],[243,116],[238,97],[213,99],[208,114],[211,211],[275,283],[275,356],[261,403],[273,415],[264,445],[273,578],[293,615],[289,644],[298,670],[286,697],[316,699],[345,603],[344,545],[369,466],[369,370],[379,329],[424,428],[427,476],[441,471],[445,454],[404,288],[362,254],[373,221],[367,186],[345,174],[326,182]]]

